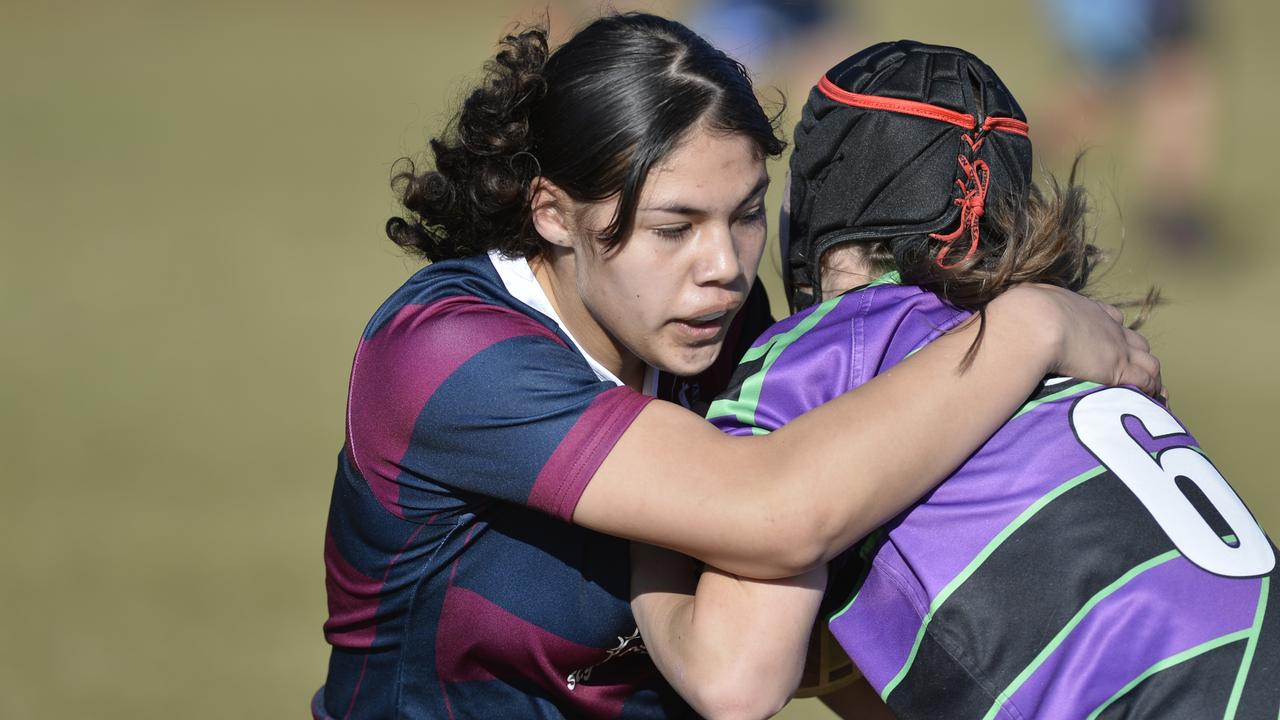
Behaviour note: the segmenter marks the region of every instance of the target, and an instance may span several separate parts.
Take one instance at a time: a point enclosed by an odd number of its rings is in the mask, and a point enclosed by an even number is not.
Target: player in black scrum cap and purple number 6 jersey
[[[896,372],[980,327],[1014,282],[1088,282],[1098,251],[1083,191],[1032,183],[1021,109],[969,53],[909,41],[858,53],[819,81],[795,138],[782,234],[800,311],[756,341],[712,405],[727,433],[772,433]],[[895,448],[906,459],[947,434],[906,433]],[[646,571],[637,564],[637,580]],[[1047,377],[948,479],[832,564],[824,616],[900,719],[1270,720],[1275,577],[1271,541],[1162,404]],[[812,616],[813,574],[740,584],[772,615],[705,579],[696,592],[637,583],[641,633],[689,633],[700,611],[721,632],[704,630],[703,646],[799,662],[795,638],[772,628]],[[682,689],[696,651],[653,655]],[[884,711],[856,693],[833,705]]]

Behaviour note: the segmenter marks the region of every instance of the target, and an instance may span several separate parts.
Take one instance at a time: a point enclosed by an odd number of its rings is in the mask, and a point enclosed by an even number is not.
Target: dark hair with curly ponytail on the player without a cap
[[[626,238],[645,177],[694,127],[744,133],[763,156],[785,143],[740,63],[687,27],[643,13],[599,18],[548,54],[547,31],[506,36],[445,132],[434,169],[397,163],[404,217],[387,236],[429,260],[498,250],[536,258],[530,187],[577,201],[618,196],[599,240]]]

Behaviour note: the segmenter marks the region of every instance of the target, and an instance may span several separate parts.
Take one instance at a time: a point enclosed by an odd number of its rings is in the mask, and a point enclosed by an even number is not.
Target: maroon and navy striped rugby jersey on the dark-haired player
[[[649,397],[600,379],[489,258],[433,264],[351,373],[316,717],[671,717],[625,541],[571,524]]]

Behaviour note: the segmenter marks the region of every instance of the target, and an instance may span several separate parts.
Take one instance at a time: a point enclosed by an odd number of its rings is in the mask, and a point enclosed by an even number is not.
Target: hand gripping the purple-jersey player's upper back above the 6
[[[1151,354],[1147,338],[1124,327],[1124,314],[1111,305],[1044,284],[1018,286],[992,306],[997,304],[1021,313],[1029,327],[1050,333],[1047,372],[1103,384],[1132,384],[1164,397],[1160,360]]]

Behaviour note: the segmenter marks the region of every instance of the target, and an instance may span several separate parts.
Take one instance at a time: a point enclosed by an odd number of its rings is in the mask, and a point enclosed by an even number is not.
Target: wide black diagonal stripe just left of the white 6
[[[1172,548],[1110,471],[1064,492],[937,609],[890,707],[900,719],[936,717],[941,687],[947,717],[982,717],[1091,597]]]

